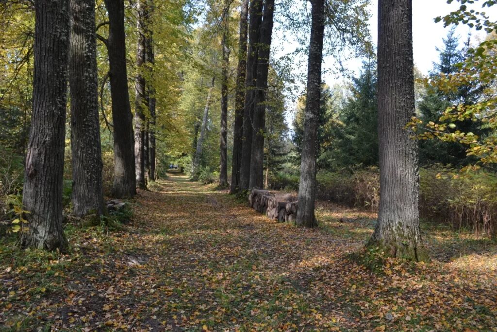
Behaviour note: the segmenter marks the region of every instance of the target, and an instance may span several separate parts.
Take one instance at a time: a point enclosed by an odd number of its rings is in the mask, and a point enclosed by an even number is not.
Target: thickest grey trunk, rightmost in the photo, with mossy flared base
[[[420,260],[417,143],[406,123],[414,116],[411,0],[380,0],[378,26],[378,137],[380,208],[370,246]]]

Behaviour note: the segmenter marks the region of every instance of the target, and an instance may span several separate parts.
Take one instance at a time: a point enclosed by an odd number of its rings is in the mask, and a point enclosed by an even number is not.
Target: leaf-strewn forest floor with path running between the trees
[[[0,239],[0,331],[497,331],[496,241],[423,223],[431,262],[381,261],[373,213],[302,229],[177,174],[132,204],[67,255]]]

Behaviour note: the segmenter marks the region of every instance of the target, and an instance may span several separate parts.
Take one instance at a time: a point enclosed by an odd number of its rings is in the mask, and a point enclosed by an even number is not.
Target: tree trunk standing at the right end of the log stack
[[[316,198],[316,139],[321,111],[321,65],[325,31],[324,0],[312,2],[311,40],[307,68],[307,96],[304,118],[304,139],[300,161],[299,209],[296,224],[306,227],[317,225],[314,215]]]

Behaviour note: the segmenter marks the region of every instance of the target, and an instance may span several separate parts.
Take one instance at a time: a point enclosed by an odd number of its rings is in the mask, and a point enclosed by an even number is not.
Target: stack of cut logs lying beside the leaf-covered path
[[[248,195],[250,208],[278,222],[294,222],[297,217],[298,203],[294,195],[274,195],[267,190],[253,189]]]

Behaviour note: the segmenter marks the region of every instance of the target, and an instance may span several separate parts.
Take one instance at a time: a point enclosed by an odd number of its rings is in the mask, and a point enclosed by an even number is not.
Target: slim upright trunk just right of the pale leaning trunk
[[[228,5],[229,6],[229,5]],[[229,7],[228,7],[229,8]],[[228,8],[225,9],[225,13],[228,12]],[[223,40],[221,42],[222,53],[223,53],[223,68],[221,73],[221,135],[220,135],[220,171],[219,171],[219,186],[224,188],[228,187],[228,69],[230,65],[230,49],[227,45],[227,33],[228,33],[228,15],[225,15],[225,29],[223,33]]]

